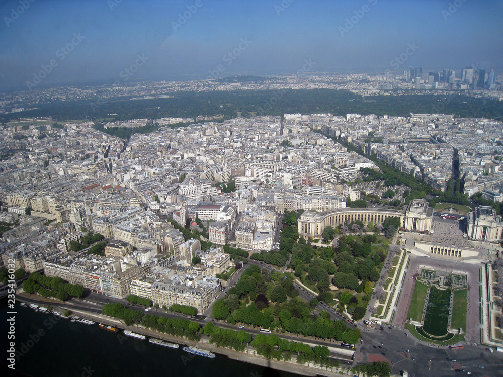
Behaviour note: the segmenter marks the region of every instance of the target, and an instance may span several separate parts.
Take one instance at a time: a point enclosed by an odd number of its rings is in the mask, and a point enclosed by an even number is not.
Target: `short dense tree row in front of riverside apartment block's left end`
[[[81,284],[70,284],[60,277],[50,277],[34,272],[23,281],[23,291],[66,301],[70,297],[82,297],[84,287]]]

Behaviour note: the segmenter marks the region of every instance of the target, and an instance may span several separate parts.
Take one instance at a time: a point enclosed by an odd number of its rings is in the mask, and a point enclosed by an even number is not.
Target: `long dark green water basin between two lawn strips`
[[[430,289],[428,307],[426,308],[425,323],[423,331],[433,336],[443,336],[449,330],[449,302],[451,300],[451,290],[439,290],[436,287]]]

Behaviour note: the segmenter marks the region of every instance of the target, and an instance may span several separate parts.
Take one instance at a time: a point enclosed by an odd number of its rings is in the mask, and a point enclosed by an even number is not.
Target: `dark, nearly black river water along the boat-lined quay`
[[[7,299],[0,302],[0,336],[2,359],[8,362],[9,325]],[[191,377],[266,377],[296,374],[267,370],[262,366],[228,359],[194,356],[114,334],[90,326],[70,322],[19,306],[16,302],[15,342],[19,360],[14,375],[43,377],[129,377],[129,376],[191,376]],[[9,371],[9,369],[7,369]],[[5,374],[4,374],[5,375]],[[11,373],[9,373],[11,375]]]

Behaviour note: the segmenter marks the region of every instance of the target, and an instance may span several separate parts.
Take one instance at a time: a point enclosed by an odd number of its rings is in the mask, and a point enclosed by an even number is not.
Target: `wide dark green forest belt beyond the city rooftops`
[[[455,93],[455,92],[453,92]],[[99,103],[99,105],[96,105]],[[363,97],[348,90],[282,89],[247,91],[177,92],[172,98],[128,100],[98,98],[87,101],[59,101],[39,105],[39,109],[6,114],[5,123],[24,117],[51,116],[56,121],[89,119],[129,120],[136,118],[196,117],[223,114],[226,119],[236,112],[249,117],[257,115],[281,116],[285,113],[348,113],[409,116],[410,113],[444,113],[463,118],[492,118],[503,120],[503,102],[473,98],[465,95],[388,95]],[[440,109],[440,111],[439,111]],[[117,114],[111,116],[110,114]]]

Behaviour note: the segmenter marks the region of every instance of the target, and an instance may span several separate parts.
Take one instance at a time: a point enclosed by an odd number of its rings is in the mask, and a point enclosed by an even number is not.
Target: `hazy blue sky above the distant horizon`
[[[503,67],[501,1],[0,0],[0,17],[0,88],[51,60],[43,83]]]

